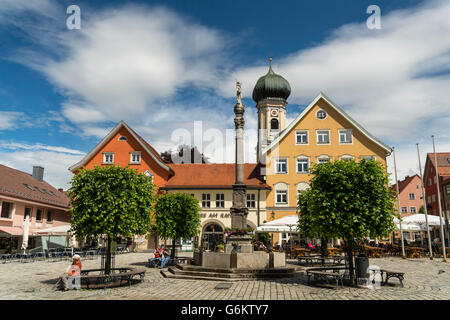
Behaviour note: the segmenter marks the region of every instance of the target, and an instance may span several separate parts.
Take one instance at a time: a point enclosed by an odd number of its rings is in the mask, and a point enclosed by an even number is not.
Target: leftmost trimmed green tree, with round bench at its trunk
[[[135,169],[82,169],[72,178],[69,195],[72,230],[77,237],[107,237],[105,274],[111,272],[111,247],[118,236],[144,235],[151,229],[155,185]]]

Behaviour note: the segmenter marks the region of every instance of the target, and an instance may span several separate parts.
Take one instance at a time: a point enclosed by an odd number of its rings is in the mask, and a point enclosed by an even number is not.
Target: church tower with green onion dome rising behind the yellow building
[[[262,150],[286,127],[286,105],[290,94],[289,82],[273,72],[270,58],[269,71],[258,79],[253,89],[253,100],[258,109],[258,163],[265,163],[261,159]]]

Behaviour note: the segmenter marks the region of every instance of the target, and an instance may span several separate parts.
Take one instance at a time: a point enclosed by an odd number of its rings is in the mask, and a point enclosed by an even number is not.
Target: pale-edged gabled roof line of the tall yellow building
[[[358,122],[353,120],[347,113],[345,113],[344,110],[342,110],[337,104],[335,104],[333,101],[331,101],[330,98],[328,98],[323,92],[320,92],[317,97],[305,108],[305,110],[302,111],[298,115],[298,117],[292,121],[289,126],[287,126],[281,134],[274,140],[270,145],[268,145],[266,148],[262,150],[262,153],[265,154],[267,151],[271,150],[274,146],[276,146],[283,138],[291,132],[292,129],[295,128],[295,126],[305,117],[305,115],[311,110],[316,103],[320,100],[325,100],[333,109],[335,109],[344,119],[346,119],[348,122],[350,122],[355,128],[357,128],[359,131],[361,131],[369,140],[374,142],[376,145],[380,146],[382,149],[386,151],[387,154],[390,154],[392,152],[392,149],[385,145],[383,142],[379,141],[377,138],[375,138],[372,134],[370,134],[366,129],[364,129]]]

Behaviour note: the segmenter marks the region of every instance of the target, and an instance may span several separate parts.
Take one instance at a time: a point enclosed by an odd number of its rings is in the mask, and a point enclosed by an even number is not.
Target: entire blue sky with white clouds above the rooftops
[[[66,28],[71,4],[80,30]],[[380,30],[366,26],[373,4]],[[67,187],[67,168],[119,120],[159,151],[194,121],[232,128],[236,80],[251,131],[251,91],[271,56],[292,87],[288,120],[325,92],[396,146],[402,178],[417,172],[416,142],[422,161],[432,134],[437,151],[450,149],[449,16],[439,0],[0,0],[0,163],[42,165]]]

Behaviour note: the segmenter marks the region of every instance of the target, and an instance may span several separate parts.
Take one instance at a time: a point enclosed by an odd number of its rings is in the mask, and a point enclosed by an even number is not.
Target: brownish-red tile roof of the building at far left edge
[[[0,164],[0,177],[0,196],[5,195],[65,209],[69,208],[69,198],[64,192],[58,191],[45,181],[36,180],[29,173]]]

